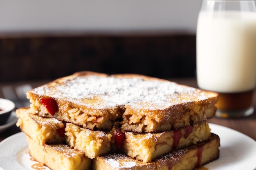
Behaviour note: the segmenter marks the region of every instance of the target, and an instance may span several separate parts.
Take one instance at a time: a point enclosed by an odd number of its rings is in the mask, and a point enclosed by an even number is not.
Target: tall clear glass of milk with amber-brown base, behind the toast
[[[196,33],[198,86],[219,93],[217,117],[254,112],[256,8],[254,0],[203,0]]]

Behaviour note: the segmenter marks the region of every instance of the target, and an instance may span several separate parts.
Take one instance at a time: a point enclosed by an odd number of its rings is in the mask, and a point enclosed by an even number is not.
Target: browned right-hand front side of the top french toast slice
[[[209,101],[212,103],[208,103]],[[126,106],[123,121],[120,122],[121,129],[134,132],[172,130],[207,121],[215,116],[216,110],[215,101],[211,98],[207,102],[204,100],[177,104],[164,110],[136,110],[133,106]]]

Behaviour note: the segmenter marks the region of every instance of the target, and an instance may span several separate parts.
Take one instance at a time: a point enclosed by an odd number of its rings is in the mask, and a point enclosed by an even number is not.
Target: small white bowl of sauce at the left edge
[[[7,123],[14,108],[15,104],[11,100],[0,98],[0,125]]]

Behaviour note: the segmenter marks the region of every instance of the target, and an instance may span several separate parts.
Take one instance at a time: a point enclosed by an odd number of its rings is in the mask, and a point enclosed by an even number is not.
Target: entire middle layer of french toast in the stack
[[[55,118],[44,118],[29,113],[29,108],[16,111],[18,126],[38,144],[63,144],[81,150],[86,157],[93,159],[110,152],[122,152],[143,162],[180,149],[191,144],[206,141],[211,137],[208,122],[193,124],[186,128],[155,133],[128,132],[113,128],[111,131],[90,130],[58,121]],[[60,131],[61,130],[61,133]],[[115,131],[124,134],[121,147],[117,148]]]

